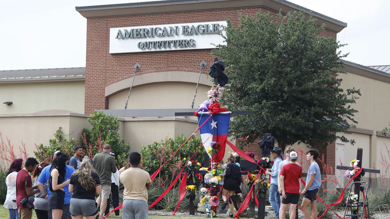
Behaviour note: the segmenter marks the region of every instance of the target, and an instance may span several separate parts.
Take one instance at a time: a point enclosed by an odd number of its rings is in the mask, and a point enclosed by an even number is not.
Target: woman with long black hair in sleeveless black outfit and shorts
[[[64,181],[68,161],[68,156],[59,152],[50,167],[50,183],[53,193],[49,198],[49,209],[52,211],[53,219],[61,219],[62,210],[64,209],[64,186],[68,185],[70,181],[70,178]]]

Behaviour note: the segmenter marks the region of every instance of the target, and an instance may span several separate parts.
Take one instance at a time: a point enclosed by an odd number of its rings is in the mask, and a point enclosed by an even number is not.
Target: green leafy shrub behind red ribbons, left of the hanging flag
[[[161,164],[168,160],[168,158],[176,152],[176,150],[187,140],[184,135],[177,136],[176,139],[167,138],[161,141],[155,141],[152,144],[144,145],[141,148],[142,156],[142,168],[149,174],[153,174]],[[195,152],[200,145],[202,140],[197,137],[192,137],[188,142],[180,148],[179,152],[172,157],[167,164],[165,164],[160,171],[160,179],[163,180],[164,184],[168,182],[168,179],[176,177],[177,172],[181,170],[184,163],[183,158],[186,157],[187,161],[190,159],[190,152]],[[203,164],[204,162],[204,149],[200,148],[193,160],[196,160]]]

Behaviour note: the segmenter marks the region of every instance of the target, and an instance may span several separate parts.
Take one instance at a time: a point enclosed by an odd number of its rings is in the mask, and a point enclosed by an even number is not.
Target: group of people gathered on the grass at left
[[[35,210],[37,219],[101,219],[110,210],[111,196],[113,207],[119,206],[120,180],[124,185],[122,217],[146,219],[151,179],[149,173],[138,168],[141,155],[132,152],[130,168],[121,174],[114,156],[106,144],[93,159],[78,145],[70,159],[63,152],[54,152],[51,164],[29,157],[23,166],[23,159],[15,159],[5,179],[4,207],[9,210],[9,218],[31,219]],[[95,200],[96,194],[99,196]],[[119,210],[115,217],[120,217]]]

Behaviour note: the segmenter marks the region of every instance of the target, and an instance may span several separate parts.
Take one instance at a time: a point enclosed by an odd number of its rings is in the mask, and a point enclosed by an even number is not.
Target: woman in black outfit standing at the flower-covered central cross
[[[226,173],[223,180],[223,191],[222,194],[229,194],[229,211],[227,212],[228,217],[233,217],[233,205],[238,210],[237,200],[234,193],[241,193],[241,168],[236,164],[236,158],[233,155],[226,161]]]

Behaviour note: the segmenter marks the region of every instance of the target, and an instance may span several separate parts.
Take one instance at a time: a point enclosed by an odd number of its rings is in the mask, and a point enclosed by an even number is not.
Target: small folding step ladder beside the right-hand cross
[[[352,192],[352,188],[355,188],[355,185],[358,184],[360,185],[360,190],[359,190],[359,193],[363,192],[364,189],[366,190],[365,191],[365,196],[364,196],[364,199],[363,201],[357,201],[358,203],[352,203],[352,201],[350,200],[350,196],[349,194],[351,194]],[[365,187],[364,185],[367,184]],[[347,198],[347,204],[345,206],[345,212],[344,212],[344,217],[343,219],[346,219],[346,217],[351,217],[351,219],[363,219],[365,218],[365,210],[364,210],[364,207],[366,207],[367,209],[367,219],[370,218],[370,210],[369,210],[369,205],[368,205],[368,198],[367,198],[367,195],[368,195],[368,188],[369,188],[370,184],[368,182],[353,182],[353,184],[351,184],[351,187],[349,188],[349,193],[348,193],[348,198]],[[358,194],[359,195],[359,199],[360,197],[362,197],[361,195],[362,194]],[[356,209],[353,209],[353,208],[356,208]],[[359,214],[359,208],[361,208],[361,213]]]

